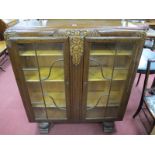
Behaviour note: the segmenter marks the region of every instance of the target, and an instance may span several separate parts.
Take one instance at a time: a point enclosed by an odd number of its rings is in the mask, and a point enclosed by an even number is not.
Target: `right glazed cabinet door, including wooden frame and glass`
[[[119,119],[132,77],[138,38],[87,37],[85,40],[83,119]]]

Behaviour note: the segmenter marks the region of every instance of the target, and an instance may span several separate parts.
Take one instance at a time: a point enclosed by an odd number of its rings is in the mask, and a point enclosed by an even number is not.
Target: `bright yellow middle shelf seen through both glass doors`
[[[23,69],[27,82],[39,82],[39,72],[37,68]],[[50,69],[48,67],[42,67],[40,69],[41,79],[48,77]],[[107,81],[111,79],[112,69],[103,68],[103,74],[105,79],[102,77],[101,70],[99,67],[89,68],[89,80],[88,81]],[[127,69],[115,69],[113,73],[113,80],[126,80],[128,74]],[[45,82],[63,82],[64,81],[64,70],[60,67],[54,67],[48,79]]]

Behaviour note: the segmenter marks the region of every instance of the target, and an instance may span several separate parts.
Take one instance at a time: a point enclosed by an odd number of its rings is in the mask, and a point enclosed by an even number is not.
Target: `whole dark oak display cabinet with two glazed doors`
[[[112,132],[123,119],[145,33],[119,24],[25,21],[6,31],[28,119],[41,132],[54,122],[102,122]]]

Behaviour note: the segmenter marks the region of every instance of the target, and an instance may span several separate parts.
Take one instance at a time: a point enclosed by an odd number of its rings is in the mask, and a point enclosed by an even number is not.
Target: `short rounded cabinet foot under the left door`
[[[50,122],[41,122],[38,124],[41,134],[48,134],[49,128],[51,126]]]

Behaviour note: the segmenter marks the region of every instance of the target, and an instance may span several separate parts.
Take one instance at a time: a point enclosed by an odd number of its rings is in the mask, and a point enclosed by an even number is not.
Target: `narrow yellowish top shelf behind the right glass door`
[[[111,56],[111,55],[115,55],[115,51],[114,50],[90,50],[90,55],[91,56]],[[117,52],[116,54],[117,56],[131,56],[132,52],[129,50],[121,50],[119,52]]]

